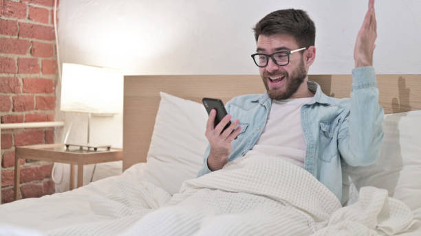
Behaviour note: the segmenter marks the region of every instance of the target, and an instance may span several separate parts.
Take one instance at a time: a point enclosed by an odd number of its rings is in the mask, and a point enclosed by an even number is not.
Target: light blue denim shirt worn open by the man
[[[336,99],[325,95],[315,82],[307,82],[313,99],[301,107],[301,125],[306,152],[304,169],[342,198],[341,165],[371,165],[376,162],[382,131],[383,109],[378,104],[378,88],[374,67],[358,67],[352,71],[350,98]],[[228,114],[239,119],[241,132],[232,143],[228,161],[244,156],[266,125],[272,99],[263,95],[242,95],[226,104]],[[280,134],[282,135],[282,134]],[[204,167],[198,176],[210,172],[205,152]],[[343,163],[345,162],[345,163]]]

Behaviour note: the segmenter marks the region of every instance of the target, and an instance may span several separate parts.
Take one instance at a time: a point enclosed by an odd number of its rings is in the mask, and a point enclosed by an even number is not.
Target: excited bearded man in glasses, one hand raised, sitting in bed
[[[252,58],[267,92],[232,99],[226,104],[229,115],[215,127],[216,112],[210,113],[210,145],[199,176],[246,153],[279,156],[303,167],[341,200],[342,162],[373,164],[383,137],[373,68],[374,0],[356,38],[350,99],[327,97],[319,84],[307,80],[316,47],[314,23],[305,12],[272,12],[254,31],[257,53]],[[236,119],[222,131],[232,117]]]

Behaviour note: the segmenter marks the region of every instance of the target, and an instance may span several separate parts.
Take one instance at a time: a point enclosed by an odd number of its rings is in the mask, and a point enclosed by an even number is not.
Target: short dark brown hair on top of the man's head
[[[260,34],[289,34],[293,36],[299,47],[314,45],[316,27],[307,12],[296,9],[277,10],[261,19],[253,28],[256,42]]]

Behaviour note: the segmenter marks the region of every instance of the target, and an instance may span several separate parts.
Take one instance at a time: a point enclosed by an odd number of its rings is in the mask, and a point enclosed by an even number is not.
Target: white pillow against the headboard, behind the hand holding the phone
[[[202,168],[208,113],[197,102],[162,92],[160,96],[145,174],[172,195]]]

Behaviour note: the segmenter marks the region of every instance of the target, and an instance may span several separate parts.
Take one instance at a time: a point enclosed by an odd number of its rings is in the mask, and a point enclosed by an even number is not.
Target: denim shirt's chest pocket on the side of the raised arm
[[[332,121],[319,121],[319,158],[322,161],[330,162],[338,155],[334,130]]]

